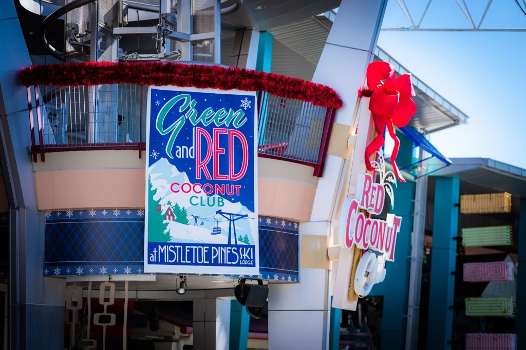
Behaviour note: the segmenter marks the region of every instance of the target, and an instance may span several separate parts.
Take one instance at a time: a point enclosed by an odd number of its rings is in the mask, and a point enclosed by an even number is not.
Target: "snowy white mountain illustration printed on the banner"
[[[177,167],[170,164],[166,158],[159,158],[157,162],[149,167],[149,177],[151,187],[156,191],[154,199],[158,201],[161,213],[166,213],[170,205],[173,207],[176,203],[181,208],[186,209],[188,225],[181,224],[180,220],[177,220],[179,222],[175,220],[164,220],[165,224],[168,224],[167,231],[169,231],[170,234],[170,242],[229,243],[229,220],[216,214],[216,211],[221,209],[226,213],[248,216],[247,218],[235,221],[237,240],[236,243],[234,243],[234,232],[232,230],[230,243],[238,245],[245,245],[247,241],[250,245],[255,243],[254,234],[257,235],[258,232],[256,215],[239,202],[232,203],[232,201],[229,200],[231,196],[214,194],[207,196],[203,192],[200,194],[193,192],[183,193],[182,191],[178,193],[172,192],[170,189],[172,183],[177,182],[183,184],[190,183],[190,181],[185,172],[180,172]],[[201,183],[206,183],[206,180]],[[204,203],[206,203],[207,197],[220,196],[224,198],[224,206],[193,206],[190,204],[190,197],[192,196],[203,196]],[[194,198],[194,203],[195,202],[196,199]],[[149,210],[154,210],[154,208],[150,208]],[[198,218],[194,218],[193,215]],[[197,226],[195,226],[196,222]],[[220,233],[218,233],[219,229],[217,229],[217,227],[220,228]],[[239,238],[241,238],[241,240],[239,240]]]

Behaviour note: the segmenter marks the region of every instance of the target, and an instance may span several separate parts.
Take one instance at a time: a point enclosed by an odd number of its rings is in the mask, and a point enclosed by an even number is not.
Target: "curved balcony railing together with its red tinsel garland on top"
[[[260,157],[309,165],[322,176],[336,109],[329,87],[273,73],[183,63],[89,62],[29,67],[33,161],[48,152],[145,149],[149,85],[258,91]]]

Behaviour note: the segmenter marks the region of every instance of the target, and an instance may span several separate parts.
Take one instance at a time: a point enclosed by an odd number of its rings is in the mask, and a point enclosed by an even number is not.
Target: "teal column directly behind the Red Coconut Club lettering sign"
[[[380,326],[382,349],[402,349],[406,339],[414,188],[415,184],[412,182],[398,183],[394,188],[395,208],[390,208],[389,213],[402,218],[396,242],[395,261],[386,262],[386,279],[372,287],[370,294],[383,295]],[[386,201],[389,199],[386,198]]]

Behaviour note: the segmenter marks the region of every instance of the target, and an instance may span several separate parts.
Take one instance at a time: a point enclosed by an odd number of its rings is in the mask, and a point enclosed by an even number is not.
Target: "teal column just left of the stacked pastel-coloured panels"
[[[433,247],[429,294],[428,350],[450,349],[453,326],[454,275],[457,259],[460,181],[436,177],[434,185]]]

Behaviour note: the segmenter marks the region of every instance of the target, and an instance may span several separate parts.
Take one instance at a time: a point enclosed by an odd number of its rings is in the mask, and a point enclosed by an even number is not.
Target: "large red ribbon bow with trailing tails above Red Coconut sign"
[[[382,80],[384,80],[382,82]],[[411,74],[396,77],[395,68],[387,62],[376,61],[367,67],[367,85],[370,90],[360,90],[358,96],[370,96],[369,110],[375,122],[377,136],[367,146],[365,151],[365,164],[370,171],[372,167],[370,157],[384,144],[383,132],[387,126],[389,135],[395,141],[395,147],[391,153],[391,165],[396,177],[401,182],[406,182],[400,175],[396,165],[396,156],[400,147],[400,140],[395,134],[393,125],[401,128],[409,123],[409,120],[417,111],[417,105],[411,100],[415,96]]]

